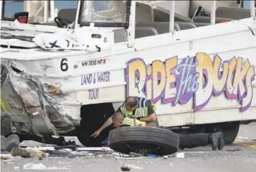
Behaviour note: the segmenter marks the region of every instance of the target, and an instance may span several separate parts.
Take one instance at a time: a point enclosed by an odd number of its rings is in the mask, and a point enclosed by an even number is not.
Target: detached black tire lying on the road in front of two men
[[[109,132],[109,147],[115,152],[129,154],[136,146],[160,146],[153,155],[171,155],[179,150],[179,136],[170,130],[156,127],[119,127]]]

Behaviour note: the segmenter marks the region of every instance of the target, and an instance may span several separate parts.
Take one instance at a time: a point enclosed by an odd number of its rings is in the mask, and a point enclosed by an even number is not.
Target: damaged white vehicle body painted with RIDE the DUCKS
[[[166,127],[256,119],[253,17],[134,39],[131,48],[112,41],[116,28],[74,31],[100,52],[44,50],[31,42],[35,27],[9,23],[2,35],[30,36],[1,40],[30,47],[1,52],[1,97],[19,133],[68,133],[79,126],[82,105],[112,102],[117,110],[128,95],[151,99]],[[65,29],[40,31],[59,32]]]

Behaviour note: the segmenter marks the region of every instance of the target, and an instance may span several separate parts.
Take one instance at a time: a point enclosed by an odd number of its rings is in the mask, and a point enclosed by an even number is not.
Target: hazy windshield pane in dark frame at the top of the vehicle
[[[80,23],[89,26],[128,26],[131,0],[127,1],[82,1]]]

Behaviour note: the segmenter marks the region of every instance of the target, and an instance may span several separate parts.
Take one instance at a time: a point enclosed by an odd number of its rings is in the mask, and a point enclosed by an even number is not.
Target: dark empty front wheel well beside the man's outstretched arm
[[[81,106],[81,126],[77,129],[77,138],[86,146],[101,146],[101,142],[108,136],[108,127],[95,139],[90,136],[98,130],[104,122],[115,113],[112,103],[100,103]]]

